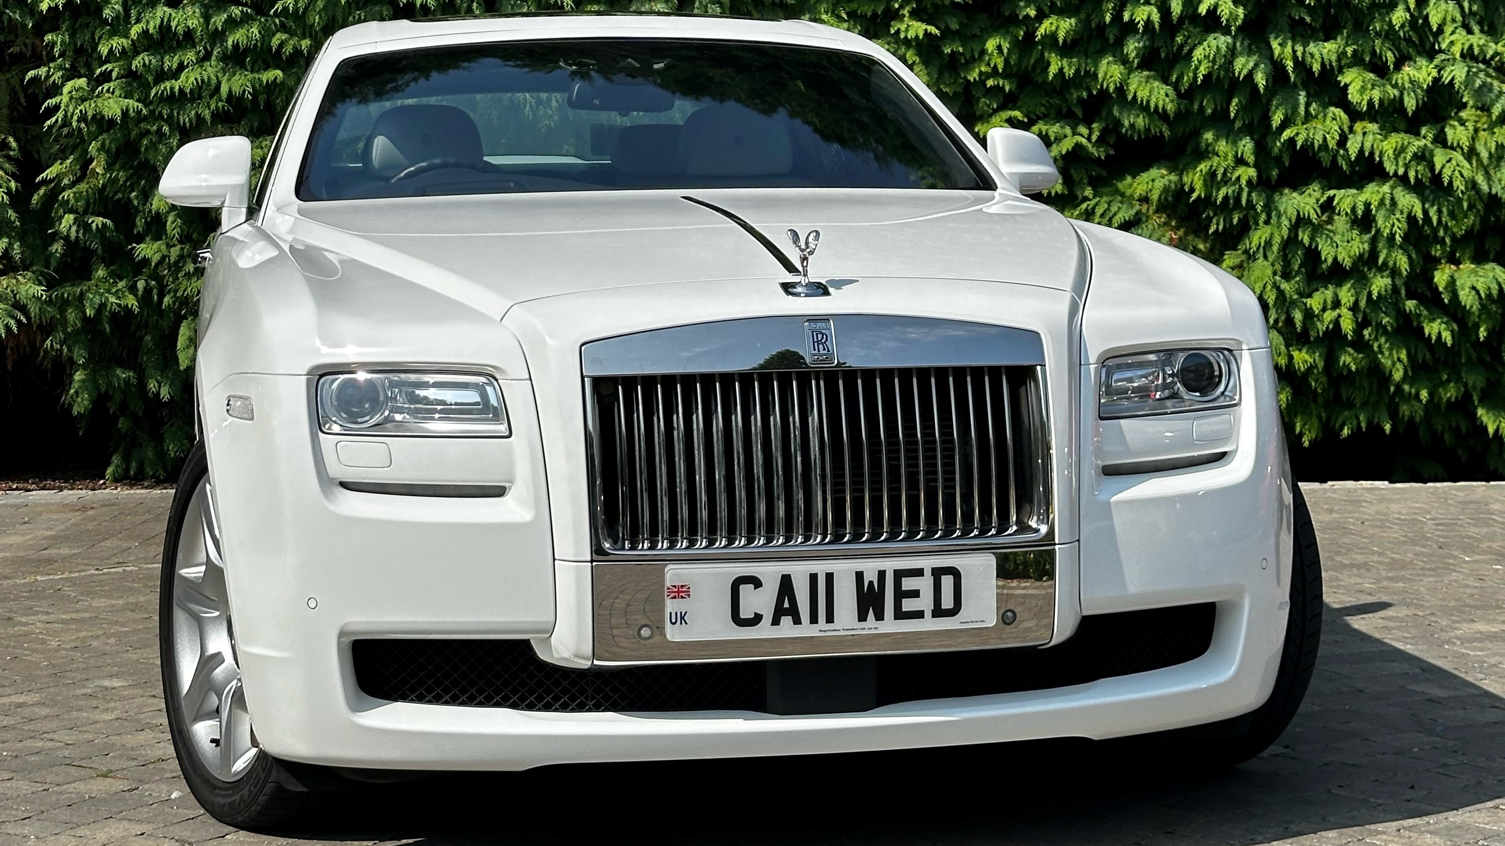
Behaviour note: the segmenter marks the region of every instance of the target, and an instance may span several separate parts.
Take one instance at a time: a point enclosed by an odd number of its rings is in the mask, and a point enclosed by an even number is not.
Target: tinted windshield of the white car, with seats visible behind
[[[992,188],[877,60],[712,41],[534,41],[342,62],[298,197]]]

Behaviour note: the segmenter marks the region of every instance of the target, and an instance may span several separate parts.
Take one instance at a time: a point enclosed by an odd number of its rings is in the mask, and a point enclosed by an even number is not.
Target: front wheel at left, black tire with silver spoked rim
[[[178,479],[163,545],[158,641],[167,729],[184,781],[209,816],[238,828],[277,828],[309,808],[316,783],[334,777],[256,747],[209,491],[200,443]]]

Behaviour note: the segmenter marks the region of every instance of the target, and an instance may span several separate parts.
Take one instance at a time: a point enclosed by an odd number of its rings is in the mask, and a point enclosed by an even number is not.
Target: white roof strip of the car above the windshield
[[[653,14],[521,14],[473,18],[420,18],[370,21],[334,33],[328,48],[361,53],[391,48],[391,42],[518,41],[539,38],[703,38],[789,44],[828,42],[831,47],[865,50],[865,38],[814,21],[762,21],[716,15]],[[417,47],[418,44],[414,44]]]

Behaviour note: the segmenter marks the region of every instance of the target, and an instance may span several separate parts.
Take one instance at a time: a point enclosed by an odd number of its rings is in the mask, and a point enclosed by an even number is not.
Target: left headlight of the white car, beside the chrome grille
[[[507,409],[491,376],[334,373],[319,378],[319,429],[331,435],[489,435],[506,438]]]

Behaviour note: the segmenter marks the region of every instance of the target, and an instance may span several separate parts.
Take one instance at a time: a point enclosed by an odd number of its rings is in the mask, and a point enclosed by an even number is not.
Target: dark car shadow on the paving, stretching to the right
[[[444,775],[343,793],[295,834],[459,843],[1252,844],[1505,798],[1505,700],[1327,608],[1306,701],[1212,777],[1088,741]]]

